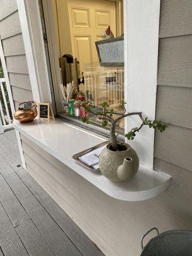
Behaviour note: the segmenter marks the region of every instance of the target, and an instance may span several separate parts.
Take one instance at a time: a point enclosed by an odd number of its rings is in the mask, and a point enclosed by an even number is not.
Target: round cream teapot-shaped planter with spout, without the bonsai
[[[100,172],[113,182],[131,179],[138,172],[139,164],[136,151],[127,143],[119,143],[117,150],[108,144],[99,157]]]

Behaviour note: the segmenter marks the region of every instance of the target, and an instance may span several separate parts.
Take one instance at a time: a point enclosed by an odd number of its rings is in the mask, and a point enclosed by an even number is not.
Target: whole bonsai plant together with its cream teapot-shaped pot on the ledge
[[[102,150],[99,157],[100,172],[113,182],[129,180],[138,172],[139,157],[129,144],[117,140],[118,134],[116,134],[115,131],[117,122],[127,116],[138,115],[140,117],[140,127],[133,127],[131,131],[125,134],[128,140],[133,140],[136,133],[145,125],[149,128],[157,129],[160,132],[163,132],[168,126],[159,120],[151,121],[148,120],[147,117],[143,118],[142,112],[126,113],[125,102],[121,102],[121,106],[124,109],[123,113],[118,113],[110,109],[107,102],[100,104],[102,111],[95,111],[87,101],[84,101],[82,104],[86,113],[92,113],[102,120],[104,127],[106,127],[108,123],[111,124],[109,143],[106,148]],[[114,118],[113,115],[118,117]],[[82,121],[89,124],[88,115],[82,118]]]

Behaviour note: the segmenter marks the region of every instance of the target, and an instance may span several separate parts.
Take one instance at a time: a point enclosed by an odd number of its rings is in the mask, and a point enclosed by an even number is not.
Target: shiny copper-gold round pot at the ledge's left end
[[[29,123],[32,122],[33,119],[37,116],[36,103],[31,101],[31,107],[28,109],[23,109],[21,106],[24,103],[28,102],[21,102],[19,104],[19,109],[15,112],[14,118],[19,120],[20,123]]]

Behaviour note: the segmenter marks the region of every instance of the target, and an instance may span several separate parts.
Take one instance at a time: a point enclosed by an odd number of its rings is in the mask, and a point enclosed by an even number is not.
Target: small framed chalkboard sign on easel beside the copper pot
[[[49,123],[50,118],[54,120],[54,113],[50,103],[40,102],[38,104],[38,120],[47,120]]]

